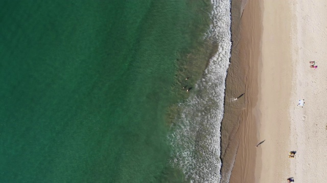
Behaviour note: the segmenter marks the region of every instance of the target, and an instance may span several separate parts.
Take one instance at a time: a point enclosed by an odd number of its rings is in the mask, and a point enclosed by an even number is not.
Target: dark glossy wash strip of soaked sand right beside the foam
[[[245,93],[247,64],[240,59],[241,40],[241,17],[246,0],[231,1],[231,57],[226,76],[226,88],[224,97],[224,116],[221,121],[221,181],[229,182],[230,173],[235,164],[236,151],[240,139],[241,115],[245,108],[245,96],[233,101]]]

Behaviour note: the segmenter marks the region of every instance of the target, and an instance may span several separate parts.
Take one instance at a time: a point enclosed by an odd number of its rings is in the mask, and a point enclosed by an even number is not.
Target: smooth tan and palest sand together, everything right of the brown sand
[[[327,181],[326,18],[322,0],[263,3],[259,137],[267,141],[256,182]]]

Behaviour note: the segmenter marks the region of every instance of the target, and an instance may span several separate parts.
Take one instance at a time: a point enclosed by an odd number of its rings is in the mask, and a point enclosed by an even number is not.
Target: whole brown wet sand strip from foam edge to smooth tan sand
[[[259,90],[262,35],[260,6],[258,0],[232,1],[233,45],[222,121],[221,182],[254,182],[255,157],[256,153],[260,153],[255,148],[259,143],[256,122],[259,111],[253,111],[258,102]],[[241,94],[244,95],[238,100],[232,100]]]

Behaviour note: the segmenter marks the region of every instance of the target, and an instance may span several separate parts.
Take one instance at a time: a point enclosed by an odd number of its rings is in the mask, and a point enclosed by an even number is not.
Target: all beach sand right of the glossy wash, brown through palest
[[[249,0],[243,16],[250,94],[230,182],[327,181],[327,1]]]

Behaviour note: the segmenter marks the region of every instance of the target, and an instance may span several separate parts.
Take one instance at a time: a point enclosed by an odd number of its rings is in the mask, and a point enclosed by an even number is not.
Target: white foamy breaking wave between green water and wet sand
[[[203,78],[197,82],[194,95],[179,104],[183,112],[169,135],[174,149],[171,163],[181,168],[190,182],[221,179],[220,126],[231,49],[230,0],[212,0],[212,3],[213,23],[206,36],[219,47],[209,60]]]

